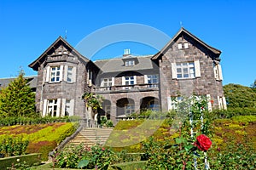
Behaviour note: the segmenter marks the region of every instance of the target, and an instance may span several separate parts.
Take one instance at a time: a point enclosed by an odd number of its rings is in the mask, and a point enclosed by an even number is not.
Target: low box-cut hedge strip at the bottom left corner
[[[25,161],[25,162],[24,162]],[[32,165],[38,165],[41,162],[41,154],[28,154],[24,156],[11,156],[0,158],[0,169],[30,169]]]

